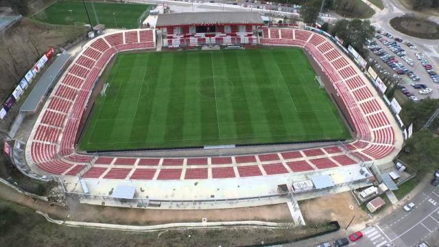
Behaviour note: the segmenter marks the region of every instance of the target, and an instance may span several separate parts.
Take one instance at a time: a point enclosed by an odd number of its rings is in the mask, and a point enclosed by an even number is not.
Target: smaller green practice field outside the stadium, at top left
[[[86,6],[93,25],[102,23],[106,27],[137,28],[139,27],[139,18],[154,5],[87,2]],[[147,15],[145,14],[144,17]],[[82,1],[58,1],[36,13],[32,18],[52,24],[88,24]]]

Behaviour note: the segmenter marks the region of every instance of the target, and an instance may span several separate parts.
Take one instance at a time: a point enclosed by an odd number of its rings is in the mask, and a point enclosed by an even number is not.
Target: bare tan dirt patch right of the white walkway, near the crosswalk
[[[354,215],[352,224],[369,220],[367,213],[358,206],[350,191],[300,201],[299,207],[305,222],[337,220],[340,227],[345,228]]]

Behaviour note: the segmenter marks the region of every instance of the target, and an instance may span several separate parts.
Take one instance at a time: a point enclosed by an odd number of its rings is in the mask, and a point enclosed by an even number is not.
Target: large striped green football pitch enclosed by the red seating
[[[81,150],[348,139],[302,49],[119,54]]]

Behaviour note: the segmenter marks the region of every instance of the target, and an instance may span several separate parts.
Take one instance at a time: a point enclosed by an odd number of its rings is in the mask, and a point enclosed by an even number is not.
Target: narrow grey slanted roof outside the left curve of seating
[[[54,83],[58,75],[60,74],[62,67],[67,63],[70,54],[62,53],[56,60],[50,65],[49,69],[45,71],[43,76],[36,82],[34,89],[27,96],[26,101],[21,106],[21,112],[34,112],[36,108],[38,108],[38,104],[40,104],[41,99],[46,95],[47,91],[49,91],[51,85]]]

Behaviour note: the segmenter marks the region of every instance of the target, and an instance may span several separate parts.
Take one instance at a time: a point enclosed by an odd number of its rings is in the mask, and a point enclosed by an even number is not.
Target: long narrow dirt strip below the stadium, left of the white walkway
[[[262,220],[268,222],[291,222],[287,204],[246,207],[237,209],[210,210],[163,210],[163,209],[128,209],[118,207],[100,207],[87,204],[73,206],[69,203],[70,220],[85,222],[104,222],[109,224],[149,225],[171,222],[208,222]]]

